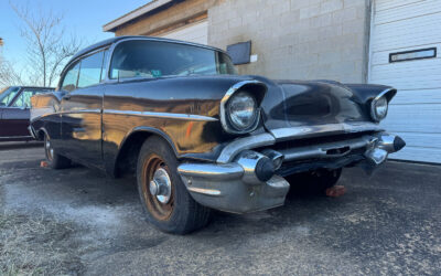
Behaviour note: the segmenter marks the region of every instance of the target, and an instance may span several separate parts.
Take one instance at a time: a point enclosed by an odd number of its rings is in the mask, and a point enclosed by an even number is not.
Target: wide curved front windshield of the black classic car
[[[236,74],[229,56],[211,49],[133,40],[114,52],[110,78]]]

